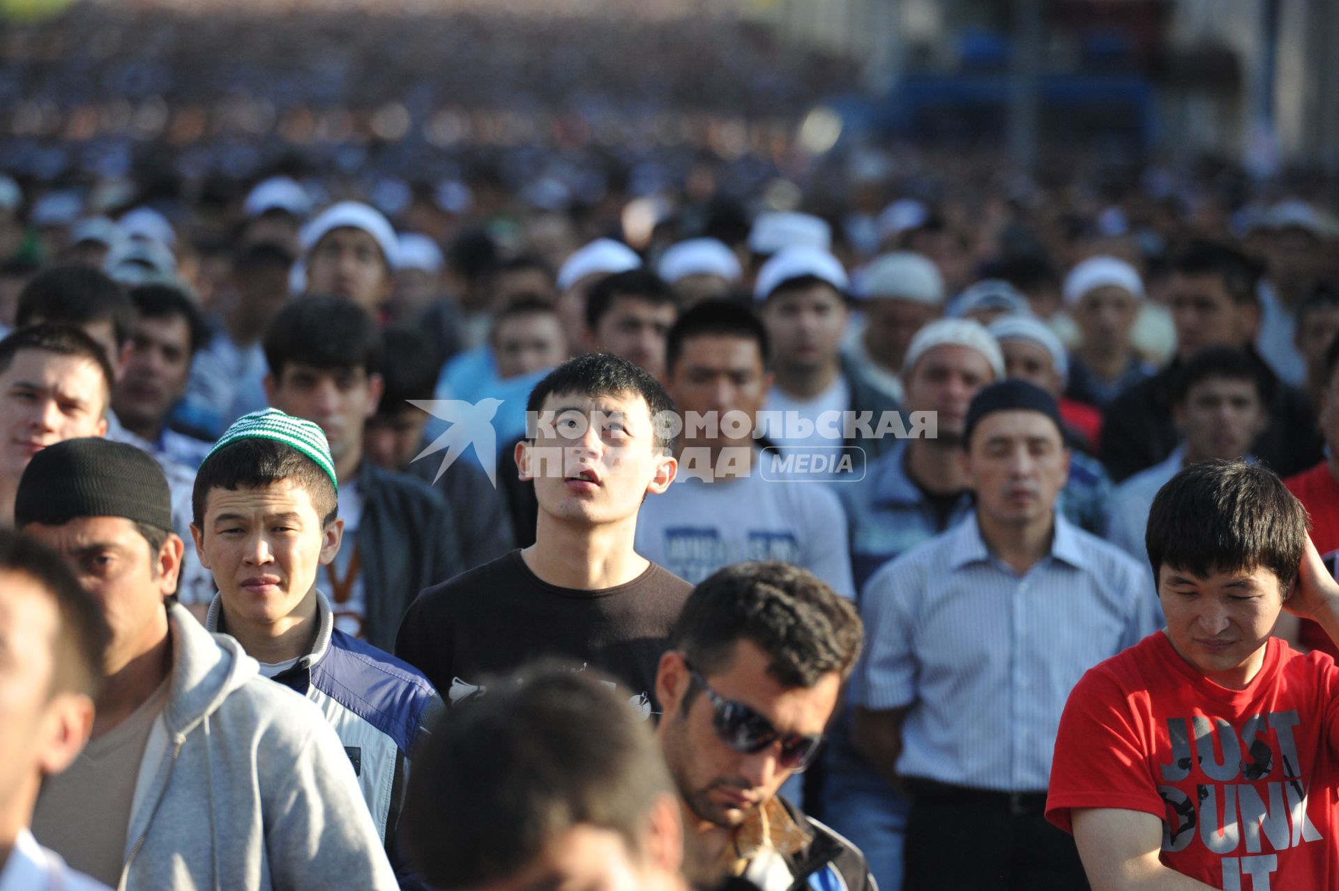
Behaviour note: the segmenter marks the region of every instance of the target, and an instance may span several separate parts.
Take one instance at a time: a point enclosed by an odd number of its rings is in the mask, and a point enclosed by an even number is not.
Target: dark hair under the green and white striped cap
[[[291,445],[274,439],[238,439],[205,458],[195,472],[190,493],[193,520],[205,528],[205,504],[213,489],[264,489],[289,480],[307,492],[321,525],[337,516],[339,496],[335,484],[320,465]]]

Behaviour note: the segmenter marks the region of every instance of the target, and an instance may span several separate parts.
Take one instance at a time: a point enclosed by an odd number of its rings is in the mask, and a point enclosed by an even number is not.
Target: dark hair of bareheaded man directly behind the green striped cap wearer
[[[265,362],[277,382],[289,363],[313,368],[382,370],[382,332],[367,310],[340,297],[289,300],[270,320]]]

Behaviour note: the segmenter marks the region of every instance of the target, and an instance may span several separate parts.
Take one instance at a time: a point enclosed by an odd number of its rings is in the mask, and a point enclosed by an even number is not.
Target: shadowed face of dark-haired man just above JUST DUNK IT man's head
[[[1185,437],[1193,461],[1236,461],[1264,433],[1269,414],[1253,381],[1206,378],[1173,409],[1177,429]]]

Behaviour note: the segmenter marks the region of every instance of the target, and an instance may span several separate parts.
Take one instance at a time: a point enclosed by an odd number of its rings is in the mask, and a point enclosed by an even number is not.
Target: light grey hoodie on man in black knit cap
[[[167,618],[167,703],[139,765],[119,891],[395,891],[320,710],[185,608]]]

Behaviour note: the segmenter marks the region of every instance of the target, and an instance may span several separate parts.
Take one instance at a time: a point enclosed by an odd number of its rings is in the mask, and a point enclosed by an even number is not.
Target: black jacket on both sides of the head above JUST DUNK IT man
[[[1251,452],[1280,477],[1289,477],[1322,458],[1316,413],[1304,393],[1279,381],[1264,359],[1253,350],[1249,352],[1273,390],[1269,426]],[[1103,411],[1102,464],[1114,482],[1152,468],[1180,445],[1181,437],[1172,423],[1172,389],[1180,370],[1181,364],[1173,362],[1118,395]]]

